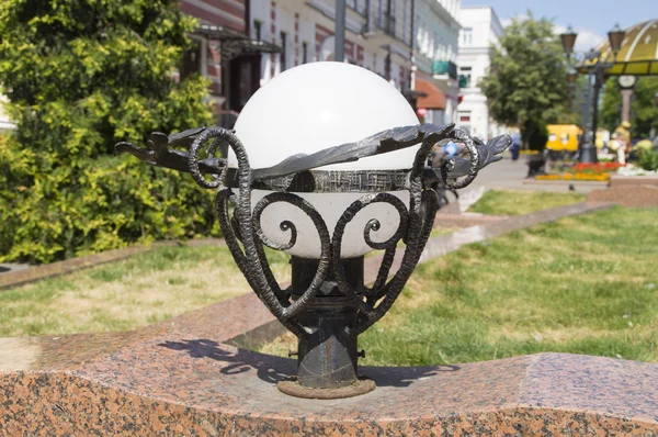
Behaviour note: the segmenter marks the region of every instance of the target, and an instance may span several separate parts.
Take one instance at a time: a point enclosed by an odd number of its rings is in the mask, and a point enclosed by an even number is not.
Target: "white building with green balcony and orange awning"
[[[427,123],[452,123],[457,117],[461,2],[415,0],[415,91],[427,94],[416,107]]]

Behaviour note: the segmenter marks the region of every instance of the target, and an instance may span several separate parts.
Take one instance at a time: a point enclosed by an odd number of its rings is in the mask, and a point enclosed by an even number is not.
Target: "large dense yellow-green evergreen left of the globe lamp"
[[[19,126],[0,142],[0,259],[211,231],[190,178],[113,149],[211,121],[205,79],[172,75],[194,25],[171,0],[0,3],[0,82]]]

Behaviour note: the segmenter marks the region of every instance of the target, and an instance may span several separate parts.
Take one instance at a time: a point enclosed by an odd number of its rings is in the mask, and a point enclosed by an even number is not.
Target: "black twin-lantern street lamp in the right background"
[[[568,27],[566,33],[563,33],[560,36],[563,49],[567,55],[567,60],[571,64],[571,55],[574,53],[574,46],[576,45],[576,38],[578,34],[574,32],[571,26]],[[609,61],[610,53],[602,54],[600,52],[590,51],[588,55],[586,55],[586,59],[591,63],[585,63],[585,68],[587,69],[588,75],[594,76],[594,92],[592,97],[592,137],[589,141],[586,141],[580,147],[580,157],[579,160],[581,163],[598,163],[597,157],[597,130],[599,127],[599,93],[601,91],[601,87],[605,81],[604,71],[608,68],[611,68],[614,65],[614,60],[616,60],[616,54],[622,47],[624,41],[625,32],[620,27],[619,24],[608,32],[608,40],[610,42],[610,48],[613,55],[612,61]],[[602,56],[604,56],[602,58]],[[575,65],[571,65],[575,67]],[[587,135],[587,128],[586,135]]]

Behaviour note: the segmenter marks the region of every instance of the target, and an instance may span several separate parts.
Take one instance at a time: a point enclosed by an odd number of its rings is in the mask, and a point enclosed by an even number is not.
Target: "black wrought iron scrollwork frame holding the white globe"
[[[439,171],[428,169],[426,164],[433,146],[436,144],[443,145],[450,141],[462,143],[468,154],[468,159],[446,159]],[[379,173],[384,173],[384,177],[378,180],[384,180],[384,182],[366,183],[365,186],[363,178],[367,180],[368,172],[363,172],[363,177],[353,178],[354,172],[337,171],[336,175],[328,176],[327,172],[321,170],[314,170],[328,164],[350,161],[419,143],[420,147],[411,169],[406,172],[402,179],[404,187],[399,187],[399,170],[379,171]],[[341,309],[350,307],[355,312],[355,324],[345,323],[344,326],[339,326],[344,330],[342,334],[353,339],[351,351],[347,354],[349,355],[347,360],[348,362],[353,361],[355,378],[356,336],[371,327],[390,310],[416,268],[430,236],[439,205],[436,193],[430,189],[431,182],[440,177],[450,188],[464,188],[475,179],[480,168],[499,160],[500,153],[510,143],[511,138],[503,136],[485,145],[478,139],[472,138],[465,132],[456,130],[454,125],[406,126],[373,135],[358,143],[322,150],[321,153],[294,156],[270,169],[259,170],[251,169],[247,150],[236,134],[224,128],[197,128],[170,137],[155,133],[151,134],[149,139],[148,150],[139,149],[129,143],[120,143],[116,148],[120,152],[129,152],[139,159],[154,165],[189,171],[200,187],[218,189],[215,198],[216,214],[226,244],[238,268],[258,298],[283,326],[297,336],[300,345],[314,334],[314,328],[305,325],[302,318],[307,317],[309,312],[317,310],[318,293],[320,293],[322,285],[331,279],[330,282],[336,284],[334,289],[337,288],[342,294],[332,302],[339,302],[338,305]],[[189,154],[170,150],[170,145],[189,145]],[[203,154],[205,157],[201,159],[200,156],[206,145],[208,146]],[[237,168],[229,169],[225,159],[215,156],[222,145],[228,145],[234,152]],[[310,175],[315,182],[310,184],[292,183],[295,177],[302,173]],[[460,175],[464,176],[462,180],[456,179]],[[209,179],[206,176],[209,176]],[[343,181],[343,191],[370,191],[365,192],[344,211],[334,226],[332,235],[330,235],[321,214],[308,201],[292,191],[337,191],[336,182],[318,184],[318,178],[320,181]],[[396,188],[409,191],[408,209],[396,195],[377,192],[393,187],[392,181],[394,181]],[[251,191],[259,188],[269,189],[272,192],[252,205]],[[232,216],[229,215],[229,203],[235,205]],[[320,257],[317,260],[317,269],[313,273],[313,279],[304,290],[282,289],[265,257],[265,247],[275,250],[287,250],[294,247],[297,240],[296,225],[286,220],[283,220],[279,226],[282,232],[290,234],[290,238],[285,244],[274,243],[264,235],[261,227],[262,213],[275,203],[287,203],[297,208],[310,218],[318,231]],[[378,231],[381,223],[377,217],[373,217],[367,222],[363,229],[364,239],[372,249],[384,250],[384,256],[374,284],[370,288],[363,287],[361,289],[359,287],[359,289],[355,289],[348,280],[345,264],[341,259],[344,231],[359,212],[375,203],[392,205],[399,214],[399,224],[390,238],[386,242],[375,243],[371,237],[371,233]],[[397,271],[392,274],[390,269],[400,240],[405,242],[401,264]],[[316,346],[318,345],[309,347]],[[298,362],[300,362],[303,357],[298,359]],[[348,382],[338,381],[337,385],[332,385],[332,388],[343,388]],[[320,384],[322,383],[320,382]],[[316,394],[311,396],[315,397]]]

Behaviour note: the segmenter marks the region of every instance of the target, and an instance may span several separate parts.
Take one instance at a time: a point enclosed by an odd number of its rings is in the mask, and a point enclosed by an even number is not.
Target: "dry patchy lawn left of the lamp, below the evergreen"
[[[268,254],[276,277],[290,279],[287,256]],[[160,247],[0,290],[0,337],[132,329],[250,290],[226,247]]]

